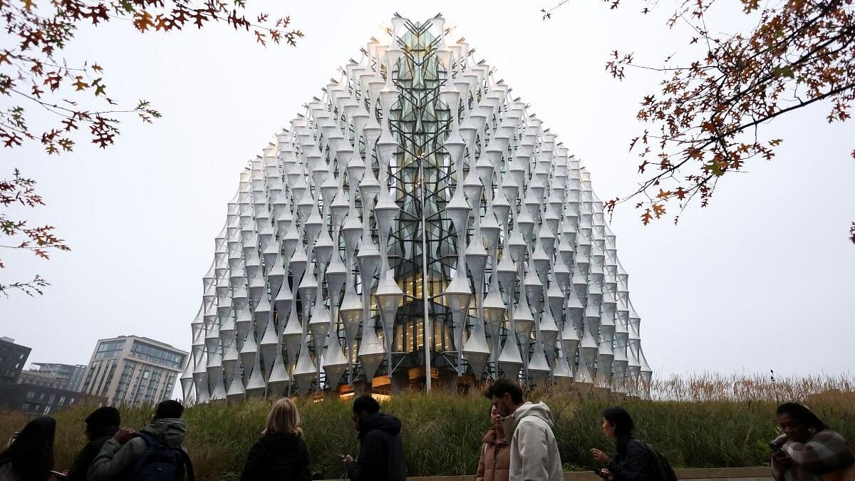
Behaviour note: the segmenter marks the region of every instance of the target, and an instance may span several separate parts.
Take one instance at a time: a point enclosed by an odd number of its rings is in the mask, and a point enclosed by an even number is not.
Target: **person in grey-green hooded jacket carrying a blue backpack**
[[[180,419],[182,413],[181,403],[169,399],[157,405],[151,422],[139,434],[129,428],[116,431],[89,466],[88,481],[144,478],[157,469],[173,471],[174,475],[168,478],[186,476],[192,481],[192,463],[184,448],[187,425]]]

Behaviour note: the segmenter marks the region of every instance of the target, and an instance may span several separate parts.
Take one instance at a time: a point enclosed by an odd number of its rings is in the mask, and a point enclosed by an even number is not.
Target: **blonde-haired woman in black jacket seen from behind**
[[[300,413],[297,405],[288,398],[276,401],[268,413],[267,423],[259,439],[246,458],[241,481],[267,481],[268,479],[311,479],[309,451],[303,442]]]

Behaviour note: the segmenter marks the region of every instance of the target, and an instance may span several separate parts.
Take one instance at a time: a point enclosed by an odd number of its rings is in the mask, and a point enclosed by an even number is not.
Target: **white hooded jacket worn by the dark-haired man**
[[[553,424],[543,401],[526,402],[502,419],[504,435],[510,437],[510,481],[563,481]]]

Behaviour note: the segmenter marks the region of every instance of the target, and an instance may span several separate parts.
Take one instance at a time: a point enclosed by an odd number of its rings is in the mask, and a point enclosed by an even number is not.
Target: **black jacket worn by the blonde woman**
[[[266,434],[250,449],[241,481],[308,481],[309,451],[301,436]]]

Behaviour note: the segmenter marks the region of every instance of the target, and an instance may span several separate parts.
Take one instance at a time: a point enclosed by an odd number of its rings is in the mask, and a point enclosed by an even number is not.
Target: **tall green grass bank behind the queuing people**
[[[543,399],[555,419],[555,434],[568,470],[592,469],[591,448],[614,452],[604,437],[600,414],[610,401],[576,401],[566,395],[531,395]],[[835,431],[855,439],[852,395],[811,397],[811,408]],[[188,451],[204,481],[239,478],[246,454],[263,429],[270,401],[208,404],[186,410]],[[625,401],[638,426],[636,435],[663,452],[675,467],[764,466],[766,442],[777,435],[775,401]],[[350,402],[299,400],[298,407],[316,478],[341,478],[344,468],[335,454],[357,454]],[[404,425],[404,453],[411,476],[460,475],[475,472],[481,437],[489,427],[489,402],[478,395],[433,393],[396,395],[383,411]],[[91,407],[56,413],[56,467],[65,469],[83,446],[86,414]],[[141,427],[151,407],[123,408],[122,424]],[[0,416],[0,440],[27,422],[22,414]]]

